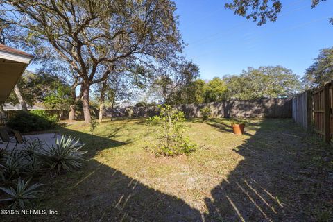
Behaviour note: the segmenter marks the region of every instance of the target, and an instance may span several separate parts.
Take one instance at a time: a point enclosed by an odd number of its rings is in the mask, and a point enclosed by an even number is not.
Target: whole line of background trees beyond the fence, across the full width
[[[333,79],[333,48],[321,50],[302,79],[291,69],[282,66],[249,67],[239,75],[215,77],[212,80],[200,79],[199,67],[193,62],[180,63],[175,69],[167,71],[169,73],[163,69],[135,67],[135,70],[114,73],[113,78],[94,85],[89,105],[100,110],[101,121],[105,107],[113,109],[116,101],[133,100],[142,89],[148,89],[155,101],[140,101],[137,106],[156,105],[158,100],[169,104],[188,104],[293,96],[304,89],[323,87]],[[83,105],[71,84],[60,76],[44,69],[35,73],[26,71],[7,102],[28,105],[43,103],[46,108],[58,110],[60,118],[71,109],[82,110]],[[76,104],[75,108],[72,108],[73,104]]]

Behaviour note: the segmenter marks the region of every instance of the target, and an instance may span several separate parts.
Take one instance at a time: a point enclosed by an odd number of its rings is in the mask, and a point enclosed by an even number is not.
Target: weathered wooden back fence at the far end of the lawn
[[[202,117],[200,110],[210,108],[210,117],[266,117],[291,118],[291,98],[230,100],[215,103],[176,105],[186,117]],[[158,114],[157,107],[126,107],[105,109],[105,115],[113,117],[153,117]]]

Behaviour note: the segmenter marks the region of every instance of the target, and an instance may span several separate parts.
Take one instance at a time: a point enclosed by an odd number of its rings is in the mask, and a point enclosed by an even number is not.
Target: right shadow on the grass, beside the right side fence
[[[333,216],[330,178],[307,153],[321,155],[322,145],[305,143],[307,135],[288,119],[266,119],[260,125],[234,149],[244,160],[212,189],[212,198],[205,198],[205,221],[318,221]]]

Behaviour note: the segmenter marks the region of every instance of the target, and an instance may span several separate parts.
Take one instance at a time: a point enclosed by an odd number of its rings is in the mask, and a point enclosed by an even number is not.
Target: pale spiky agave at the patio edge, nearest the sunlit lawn
[[[81,167],[80,160],[83,160],[83,154],[87,153],[80,150],[84,145],[75,137],[62,135],[61,139],[56,139],[56,146],[48,146],[37,152],[51,170],[60,173],[63,170],[71,171]]]

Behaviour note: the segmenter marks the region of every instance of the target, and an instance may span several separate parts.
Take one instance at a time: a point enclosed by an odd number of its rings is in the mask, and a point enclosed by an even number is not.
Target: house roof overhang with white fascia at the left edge
[[[33,56],[0,44],[0,104],[4,103]]]

